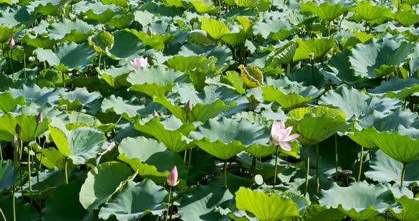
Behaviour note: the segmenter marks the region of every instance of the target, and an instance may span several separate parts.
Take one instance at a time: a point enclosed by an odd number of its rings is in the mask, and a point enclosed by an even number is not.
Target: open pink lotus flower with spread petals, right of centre
[[[286,151],[291,151],[290,141],[300,137],[298,134],[291,135],[293,127],[290,126],[285,128],[285,123],[283,121],[273,120],[271,136],[273,137],[273,145],[279,145],[282,149]]]

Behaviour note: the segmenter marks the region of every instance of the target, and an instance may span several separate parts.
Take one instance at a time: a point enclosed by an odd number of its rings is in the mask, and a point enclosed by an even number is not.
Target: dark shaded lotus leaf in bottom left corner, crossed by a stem
[[[13,196],[1,196],[0,205],[6,220],[13,220]],[[38,212],[33,206],[19,198],[15,199],[16,220],[39,220]],[[18,211],[18,212],[17,212]]]

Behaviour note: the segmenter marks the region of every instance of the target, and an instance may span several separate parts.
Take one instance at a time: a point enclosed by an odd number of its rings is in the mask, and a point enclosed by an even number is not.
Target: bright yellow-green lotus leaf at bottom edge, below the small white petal
[[[261,221],[276,221],[288,216],[298,216],[298,207],[290,198],[276,193],[252,191],[244,187],[236,192],[236,207],[251,212]]]

